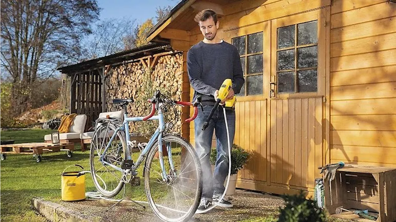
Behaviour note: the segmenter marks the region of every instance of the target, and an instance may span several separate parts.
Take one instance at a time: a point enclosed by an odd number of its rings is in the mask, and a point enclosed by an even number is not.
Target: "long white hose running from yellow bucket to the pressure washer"
[[[213,209],[213,208],[215,208],[221,201],[223,201],[223,198],[224,198],[224,196],[225,196],[225,193],[227,192],[227,188],[228,188],[228,184],[229,184],[229,182],[230,182],[230,176],[231,176],[231,145],[230,145],[230,133],[229,133],[229,131],[228,131],[228,122],[227,122],[227,116],[226,116],[226,113],[225,113],[225,107],[223,107],[223,114],[224,114],[224,120],[225,120],[225,127],[226,127],[226,130],[227,130],[227,142],[228,142],[228,179],[227,179],[227,184],[226,184],[226,186],[225,186],[225,190],[224,190],[224,192],[223,192],[223,195],[221,196],[221,198],[219,199],[219,201],[218,202],[216,202],[215,204],[213,204],[211,207],[209,207],[208,209],[206,209],[206,210],[204,210],[204,211],[200,211],[200,210],[197,210],[196,211],[196,213],[198,212],[198,213],[206,213],[206,212],[208,212],[208,211],[210,211],[211,209]],[[82,173],[91,173],[91,171],[82,171]],[[106,183],[105,183],[105,181],[103,181],[103,179],[101,178],[101,177],[99,177],[98,175],[96,175],[102,182],[103,182],[103,184],[105,184],[105,186],[106,186]],[[106,189],[106,188],[105,188]],[[91,198],[91,199],[104,199],[104,200],[107,200],[107,201],[114,201],[114,202],[119,202],[119,201],[121,201],[121,199],[109,199],[109,198],[105,198],[105,197],[103,197],[99,192],[97,192],[97,191],[94,191],[94,192],[86,192],[85,193],[85,196],[86,197],[88,197],[88,198]],[[145,204],[149,204],[147,201],[131,201],[131,200],[122,200],[122,201],[125,201],[125,202],[132,202],[132,203],[145,203]],[[175,210],[175,209],[170,209],[170,208],[168,208],[168,207],[164,207],[164,206],[161,206],[161,205],[156,205],[157,207],[162,207],[162,208],[164,208],[164,209],[168,209],[168,210],[171,210],[171,211],[176,211],[176,212],[179,212],[179,213],[186,213],[186,212],[184,212],[184,211],[179,211],[179,210]]]

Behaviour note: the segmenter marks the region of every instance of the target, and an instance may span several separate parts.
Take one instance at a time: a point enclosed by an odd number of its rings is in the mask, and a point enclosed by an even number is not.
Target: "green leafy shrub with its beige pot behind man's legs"
[[[226,191],[226,195],[233,195],[235,193],[235,187],[236,187],[236,179],[238,176],[238,171],[244,167],[246,162],[249,160],[251,157],[250,152],[244,150],[242,147],[236,144],[232,144],[231,148],[231,176],[230,176],[230,182],[228,184],[228,188]],[[212,148],[211,153],[210,153],[210,164],[212,165],[212,170],[215,167],[216,164],[216,159],[217,159],[217,149]],[[228,156],[227,156],[228,159]],[[227,177],[224,182],[224,186],[227,185]]]

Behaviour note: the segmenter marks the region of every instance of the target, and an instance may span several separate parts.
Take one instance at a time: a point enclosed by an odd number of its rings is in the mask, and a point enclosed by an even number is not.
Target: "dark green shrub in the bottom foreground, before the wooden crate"
[[[303,192],[298,195],[283,195],[286,206],[280,208],[278,222],[325,222],[326,216],[316,201],[306,199]]]

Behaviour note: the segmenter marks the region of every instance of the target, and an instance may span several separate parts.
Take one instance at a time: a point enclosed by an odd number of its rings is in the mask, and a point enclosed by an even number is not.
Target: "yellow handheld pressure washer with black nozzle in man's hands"
[[[202,125],[202,130],[205,130],[206,128],[208,128],[209,121],[212,118],[213,113],[215,112],[215,110],[219,106],[220,102],[223,101],[228,96],[228,93],[231,91],[231,86],[232,86],[232,80],[231,79],[225,79],[223,81],[223,83],[221,84],[221,87],[219,89],[219,96],[217,96],[217,101],[216,101],[215,105],[213,106],[213,109],[210,112],[210,114],[208,116],[208,119],[206,119],[206,121]],[[225,107],[229,107],[229,108],[230,107],[234,108],[235,107],[235,103],[236,103],[236,97],[232,96],[231,99],[225,101],[224,106]]]

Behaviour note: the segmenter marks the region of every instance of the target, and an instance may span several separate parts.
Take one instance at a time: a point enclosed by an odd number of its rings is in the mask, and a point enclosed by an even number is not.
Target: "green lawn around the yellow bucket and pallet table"
[[[15,143],[44,142],[44,135],[51,130],[20,130],[0,132],[0,140],[14,139]],[[31,199],[44,199],[61,202],[61,173],[67,166],[79,164],[89,171],[89,151],[81,152],[80,145],[72,158],[65,151],[44,152],[42,162],[36,163],[32,155],[7,154],[0,161],[0,222],[2,221],[46,221],[32,210]],[[137,159],[139,153],[133,154]],[[143,162],[144,164],[144,162]],[[141,166],[139,169],[143,169]],[[138,171],[141,176],[141,170]],[[141,177],[142,178],[142,177]],[[86,192],[95,191],[90,174],[86,174]],[[123,192],[114,198],[120,199]],[[126,195],[135,200],[146,200],[144,181],[140,186],[126,186]]]

